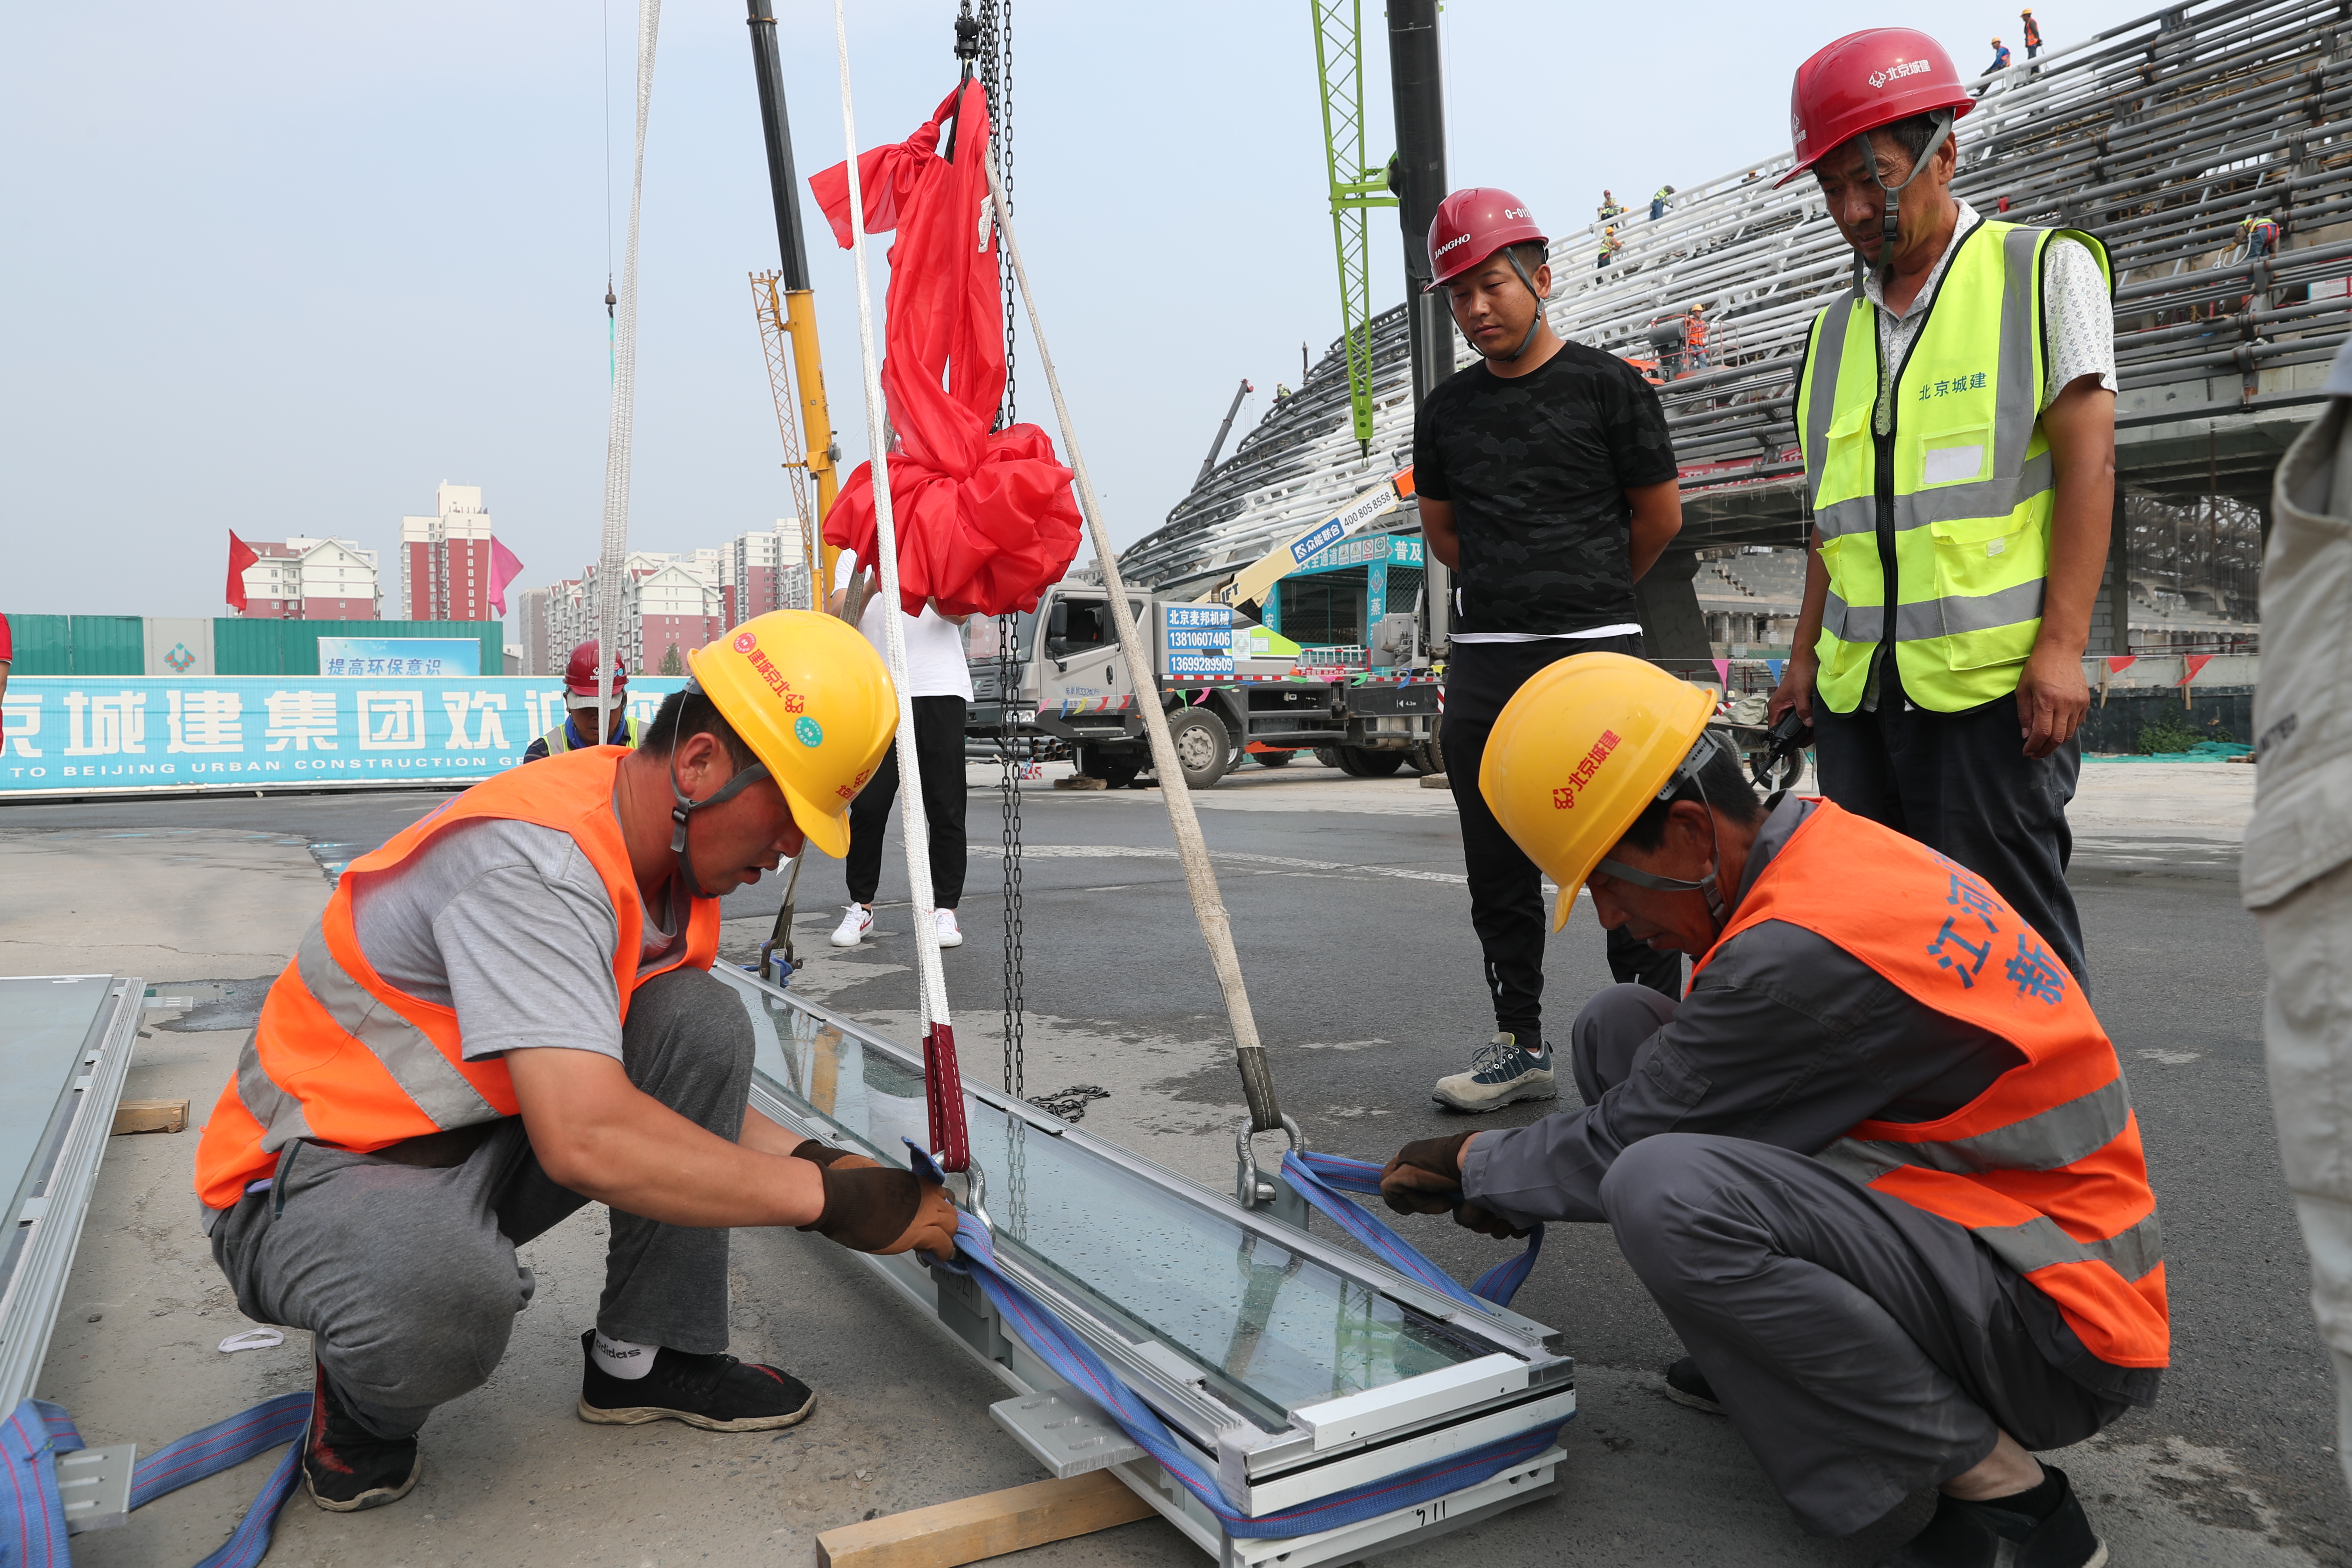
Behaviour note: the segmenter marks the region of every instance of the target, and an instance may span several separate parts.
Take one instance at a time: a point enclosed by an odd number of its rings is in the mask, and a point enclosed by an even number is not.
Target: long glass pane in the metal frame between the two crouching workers
[[[906,1166],[901,1138],[929,1143],[913,1060],[781,997],[741,990],[760,1039],[757,1072],[771,1093],[894,1166]],[[1287,1427],[1296,1406],[1494,1354],[1494,1345],[969,1091],[964,1114],[988,1178],[997,1251],[1129,1338],[1181,1354],[1211,1392],[1268,1432]]]

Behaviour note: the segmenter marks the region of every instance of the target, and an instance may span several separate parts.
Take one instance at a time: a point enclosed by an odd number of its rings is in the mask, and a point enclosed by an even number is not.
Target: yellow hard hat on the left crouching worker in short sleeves
[[[771,609],[687,654],[703,696],[767,764],[809,844],[849,853],[849,802],[898,729],[898,689],[837,616]]]

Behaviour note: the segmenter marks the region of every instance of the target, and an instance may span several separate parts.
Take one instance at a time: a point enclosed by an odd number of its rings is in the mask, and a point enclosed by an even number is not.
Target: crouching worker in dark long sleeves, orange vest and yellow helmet
[[[1940,1497],[1896,1568],[2091,1568],[2032,1448],[2157,1396],[2171,1331],[2140,1128],[2082,987],[1955,860],[1823,799],[1757,802],[1712,691],[1621,654],[1503,708],[1479,790],[1602,926],[1696,954],[1576,1018],[1583,1110],[1406,1145],[1392,1208],[1489,1234],[1604,1220],[1806,1530]]]

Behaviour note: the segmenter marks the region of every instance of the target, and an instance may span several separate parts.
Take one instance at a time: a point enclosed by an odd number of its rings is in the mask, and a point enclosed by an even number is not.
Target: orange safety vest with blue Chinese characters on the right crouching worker
[[[1867,879],[1870,896],[1856,898]],[[2124,1067],[2074,976],[1983,877],[1820,802],[1708,957],[1778,919],[1915,1001],[1999,1034],[2025,1065],[1936,1121],[1860,1121],[1816,1159],[1966,1225],[2110,1366],[2169,1366],[2164,1237]]]

